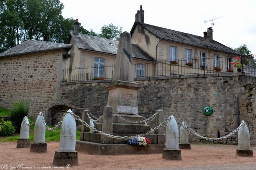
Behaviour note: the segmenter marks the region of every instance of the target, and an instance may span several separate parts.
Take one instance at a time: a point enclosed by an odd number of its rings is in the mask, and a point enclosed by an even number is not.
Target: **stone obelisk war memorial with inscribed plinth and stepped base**
[[[141,84],[134,82],[132,64],[131,35],[128,32],[123,32],[118,44],[113,81],[105,86],[109,90],[108,106],[104,107],[102,120],[94,124],[98,131],[119,136],[119,138],[92,133],[88,127],[83,126],[80,141],[76,141],[78,152],[135,154],[161,153],[164,149],[163,131],[162,134],[146,135],[151,140],[151,145],[147,147],[123,145],[127,143],[128,137],[150,131],[150,126],[143,121],[146,118],[138,114],[137,90]],[[158,112],[161,114],[163,111],[159,110]],[[89,113],[89,110],[85,110],[82,115],[82,119],[88,124],[90,123]]]

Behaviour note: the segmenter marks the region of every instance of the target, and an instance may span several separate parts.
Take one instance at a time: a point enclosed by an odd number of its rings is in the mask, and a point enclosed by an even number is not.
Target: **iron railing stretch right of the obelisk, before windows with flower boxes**
[[[136,63],[134,64],[134,77],[237,72],[238,70],[231,64],[234,61],[234,57],[199,57],[198,59],[160,61],[157,63]]]

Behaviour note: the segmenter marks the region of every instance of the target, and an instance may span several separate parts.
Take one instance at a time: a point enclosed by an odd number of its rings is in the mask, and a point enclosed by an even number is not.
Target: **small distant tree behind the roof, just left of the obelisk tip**
[[[99,37],[119,40],[120,34],[122,33],[122,27],[118,29],[118,26],[109,23],[101,27],[101,32],[98,35]]]

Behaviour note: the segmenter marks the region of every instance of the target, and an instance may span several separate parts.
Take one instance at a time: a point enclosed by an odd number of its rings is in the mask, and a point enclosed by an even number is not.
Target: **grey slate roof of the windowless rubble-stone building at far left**
[[[12,47],[11,49],[8,49],[8,50],[0,53],[0,58],[14,56],[14,55],[35,53],[35,52],[40,52],[40,51],[57,50],[57,49],[69,50],[71,48],[72,48],[72,45],[70,45],[70,44],[27,40],[19,45],[16,45],[15,47]]]

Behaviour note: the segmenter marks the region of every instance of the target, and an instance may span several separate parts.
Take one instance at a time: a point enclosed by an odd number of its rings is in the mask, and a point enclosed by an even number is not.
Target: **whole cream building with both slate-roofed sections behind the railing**
[[[241,54],[215,41],[211,27],[201,37],[146,24],[142,6],[135,17],[130,31],[134,77],[236,71],[231,63]],[[81,34],[79,24],[76,20],[68,36],[73,47],[68,69],[64,71],[66,80],[111,79],[118,41]],[[93,75],[88,78],[88,74]]]

